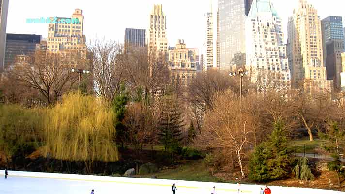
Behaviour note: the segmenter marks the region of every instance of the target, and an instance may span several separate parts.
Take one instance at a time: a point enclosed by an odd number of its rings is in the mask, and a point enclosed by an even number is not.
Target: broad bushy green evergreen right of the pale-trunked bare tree
[[[249,178],[258,182],[288,177],[291,169],[287,152],[287,137],[282,121],[274,124],[269,140],[255,148],[250,159],[249,170]]]

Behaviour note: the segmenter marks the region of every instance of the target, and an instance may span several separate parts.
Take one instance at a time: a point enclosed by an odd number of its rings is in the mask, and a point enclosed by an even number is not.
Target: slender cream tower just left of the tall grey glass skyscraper
[[[211,6],[212,7],[212,6]],[[204,42],[204,70],[213,69],[213,14],[207,12],[205,14],[205,26],[206,26],[206,39]]]

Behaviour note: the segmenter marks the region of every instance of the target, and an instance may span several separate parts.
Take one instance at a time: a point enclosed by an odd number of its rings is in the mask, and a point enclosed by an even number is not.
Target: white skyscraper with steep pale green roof
[[[282,20],[271,0],[255,0],[246,20],[246,69],[253,82],[267,79],[291,86]]]

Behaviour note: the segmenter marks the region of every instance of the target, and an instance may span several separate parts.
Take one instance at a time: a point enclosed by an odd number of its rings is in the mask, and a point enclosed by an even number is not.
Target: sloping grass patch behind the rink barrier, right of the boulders
[[[187,180],[201,182],[224,182],[220,178],[211,175],[203,160],[190,161],[175,169],[163,170],[155,173],[159,179]],[[151,175],[141,176],[150,178]]]

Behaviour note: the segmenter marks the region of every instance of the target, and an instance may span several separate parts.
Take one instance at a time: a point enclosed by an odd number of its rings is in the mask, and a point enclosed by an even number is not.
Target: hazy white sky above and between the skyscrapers
[[[213,9],[216,10],[218,0],[212,1]],[[283,19],[286,37],[287,20],[298,0],[272,2]],[[345,21],[345,0],[309,2],[318,9],[321,19],[333,15],[343,16]],[[185,39],[187,47],[201,48],[205,37],[204,13],[210,10],[210,0],[10,0],[7,33],[47,37],[47,24],[26,24],[26,19],[68,17],[75,8],[80,8],[84,15],[84,34],[88,40],[98,37],[123,42],[125,28],[146,29],[154,3],[163,4],[170,46],[174,46],[177,39],[181,38]]]

